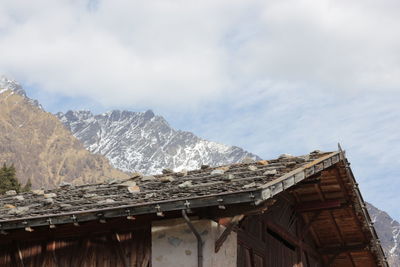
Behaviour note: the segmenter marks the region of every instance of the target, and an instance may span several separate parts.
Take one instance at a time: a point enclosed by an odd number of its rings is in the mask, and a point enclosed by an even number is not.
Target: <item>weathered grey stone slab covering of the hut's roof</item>
[[[265,185],[331,154],[320,151],[298,157],[284,154],[268,161],[248,160],[246,163],[216,168],[202,166],[199,170],[188,172],[165,170],[164,174],[154,176],[134,174],[127,180],[113,179],[101,184],[62,184],[54,190],[33,190],[21,194],[11,191],[0,198],[0,229],[21,228],[29,220],[36,220],[37,225],[43,225],[48,221],[44,218],[53,218],[50,223],[66,216],[68,220],[90,220],[84,215],[115,209],[126,208],[117,212],[119,216],[121,212],[145,214],[173,209],[170,205],[165,206],[166,203],[173,203],[176,209],[179,209],[179,205],[192,208],[194,202],[188,201],[196,199],[203,200],[201,203],[207,206],[204,199],[209,200],[210,197],[218,201],[224,199],[219,196],[230,197],[230,202],[225,204],[251,201],[254,195],[249,192],[260,191]],[[245,198],[239,193],[246,194]],[[196,207],[201,203],[197,203]],[[79,215],[82,215],[81,218]],[[59,223],[62,221],[65,218]]]

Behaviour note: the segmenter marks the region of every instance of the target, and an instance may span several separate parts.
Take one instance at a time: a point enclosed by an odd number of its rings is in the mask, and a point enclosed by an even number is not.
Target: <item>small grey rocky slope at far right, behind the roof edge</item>
[[[370,203],[367,203],[367,208],[389,265],[400,267],[400,223]]]

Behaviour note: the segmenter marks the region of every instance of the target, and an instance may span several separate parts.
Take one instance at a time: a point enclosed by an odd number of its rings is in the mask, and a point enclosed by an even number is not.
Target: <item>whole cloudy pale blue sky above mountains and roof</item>
[[[347,150],[400,219],[400,1],[1,0],[0,73],[51,112],[153,109],[263,158]]]

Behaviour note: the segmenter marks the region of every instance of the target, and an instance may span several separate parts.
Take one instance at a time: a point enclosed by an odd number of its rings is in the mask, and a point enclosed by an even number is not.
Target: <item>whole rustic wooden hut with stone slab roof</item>
[[[0,266],[388,266],[345,152],[0,199]]]

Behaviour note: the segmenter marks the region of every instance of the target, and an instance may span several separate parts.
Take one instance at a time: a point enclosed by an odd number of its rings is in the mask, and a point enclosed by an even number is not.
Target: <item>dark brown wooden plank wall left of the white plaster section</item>
[[[35,237],[37,240],[25,241],[31,240],[29,234],[25,233],[25,239],[21,237],[0,246],[0,266],[151,266],[150,228],[109,229],[103,233],[93,233],[88,229],[74,237],[57,238],[57,234],[51,234],[53,237],[47,236],[42,240]]]

